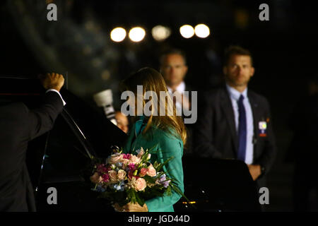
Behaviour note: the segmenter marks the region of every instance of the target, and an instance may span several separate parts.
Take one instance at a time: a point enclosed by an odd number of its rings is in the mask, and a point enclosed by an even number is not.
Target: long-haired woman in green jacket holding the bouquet
[[[182,117],[176,115],[163,76],[154,69],[143,68],[126,78],[122,85],[124,90],[133,92],[136,97],[135,100],[129,100],[129,107],[138,109],[140,107],[138,105],[142,103],[143,109],[143,115],[136,117],[136,123],[129,131],[124,153],[136,154],[134,150],[139,150],[141,147],[144,150],[149,149],[152,153],[150,160],[152,163],[155,161],[163,163],[173,157],[163,167],[163,170],[167,172],[167,176],[177,180],[179,190],[184,192],[182,155],[187,132]],[[142,95],[140,90],[137,91],[137,85],[142,85]],[[148,105],[151,106],[148,108],[148,113],[145,111],[146,101],[144,98],[147,91],[151,91],[157,97],[160,97],[160,91],[164,91],[166,94],[164,99],[158,98],[160,99],[158,100],[152,96],[151,100],[147,101],[151,102],[151,105]],[[165,115],[160,116],[160,111],[156,112],[158,109],[164,111]],[[137,110],[134,113],[136,115]],[[173,212],[173,205],[179,201],[179,198],[181,196],[172,191],[170,196],[158,196],[147,200],[144,206],[139,206],[138,203],[128,203],[124,207],[115,205],[115,208],[119,211],[129,212]]]

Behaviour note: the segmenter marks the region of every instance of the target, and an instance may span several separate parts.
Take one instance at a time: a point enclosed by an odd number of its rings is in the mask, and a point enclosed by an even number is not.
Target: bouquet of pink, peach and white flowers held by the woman
[[[124,206],[126,203],[139,203],[143,206],[147,199],[155,196],[169,196],[172,190],[184,196],[176,186],[175,179],[163,172],[163,163],[151,164],[148,150],[136,150],[137,155],[124,154],[119,148],[112,150],[106,161],[96,160],[90,181],[95,184],[93,191],[112,203]],[[184,198],[186,198],[184,196]]]

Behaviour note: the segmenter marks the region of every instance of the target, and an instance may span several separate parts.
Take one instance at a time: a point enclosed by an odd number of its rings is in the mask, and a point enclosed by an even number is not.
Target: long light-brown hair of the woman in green
[[[187,141],[187,130],[184,126],[183,119],[180,116],[177,116],[175,106],[172,103],[172,98],[170,97],[167,86],[165,85],[165,81],[163,79],[163,76],[156,71],[155,69],[151,69],[149,67],[140,69],[136,73],[131,74],[128,78],[126,78],[121,83],[121,90],[129,90],[132,91],[137,96],[137,85],[142,85],[143,92],[142,97],[144,97],[145,93],[147,91],[152,91],[152,93],[155,93],[158,97],[158,100],[155,100],[155,98],[149,98],[150,102],[152,102],[153,106],[150,107],[151,109],[151,115],[148,117],[148,123],[146,125],[146,128],[143,130],[143,134],[146,133],[149,129],[151,129],[152,125],[157,126],[160,129],[163,129],[163,131],[167,131],[169,133],[172,133],[171,129],[175,129],[177,134],[173,135],[179,135],[182,139],[184,145]],[[165,98],[160,98],[160,91],[164,91]],[[148,92],[149,93],[149,92]],[[136,97],[138,98],[138,97]],[[141,97],[139,97],[141,98]],[[140,99],[139,99],[140,100]],[[144,98],[142,98],[142,109],[145,106],[146,102]],[[136,106],[136,105],[135,105]],[[160,116],[160,106],[163,106],[165,110],[165,115]],[[156,115],[154,112],[157,111],[158,114]]]

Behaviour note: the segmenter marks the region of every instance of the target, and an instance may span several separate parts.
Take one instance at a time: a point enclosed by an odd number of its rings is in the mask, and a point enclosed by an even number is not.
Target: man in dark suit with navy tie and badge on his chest
[[[225,51],[226,85],[209,91],[198,110],[195,154],[201,157],[245,162],[259,187],[276,157],[269,102],[247,88],[254,75],[247,49],[232,46]]]

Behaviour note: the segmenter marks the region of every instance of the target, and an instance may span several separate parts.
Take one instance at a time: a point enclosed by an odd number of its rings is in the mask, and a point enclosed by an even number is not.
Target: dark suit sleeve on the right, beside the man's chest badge
[[[276,141],[275,136],[273,134],[273,126],[272,126],[272,119],[271,119],[271,110],[269,107],[269,102],[265,99],[265,106],[266,106],[266,121],[267,121],[267,137],[264,144],[264,152],[255,164],[262,165],[266,169],[266,173],[269,172],[273,162],[276,158]]]

